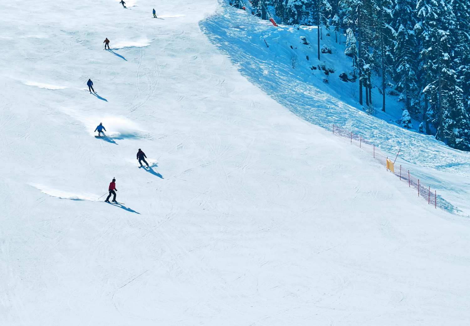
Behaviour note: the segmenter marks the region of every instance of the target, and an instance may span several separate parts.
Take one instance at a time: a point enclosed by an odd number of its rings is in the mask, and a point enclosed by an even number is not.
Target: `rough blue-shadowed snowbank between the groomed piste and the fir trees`
[[[388,97],[387,112],[381,110],[381,95],[374,89],[373,98],[377,116],[371,117],[359,110],[357,83],[340,81],[341,72],[351,70],[351,59],[344,56],[344,45],[335,43],[334,32],[323,31],[321,47],[327,45],[334,55],[322,54],[316,58],[316,27],[274,27],[268,21],[251,16],[250,12],[229,7],[221,1],[221,8],[210,19],[201,22],[208,37],[223,50],[240,72],[268,95],[290,111],[315,125],[331,130],[333,124],[362,135],[395,156],[397,164],[409,168],[425,184],[437,189],[454,207],[452,212],[470,216],[470,153],[457,151],[438,142],[431,135],[422,135],[383,121],[401,116],[396,97]],[[312,46],[302,44],[305,37]],[[269,45],[266,48],[265,40]],[[344,42],[344,38],[343,38]],[[293,46],[293,49],[290,48]],[[298,58],[298,67],[292,69],[291,56]],[[305,56],[309,56],[309,61]],[[335,73],[328,76],[310,67],[326,63]],[[379,81],[374,81],[378,84]],[[415,123],[415,129],[417,124]]]

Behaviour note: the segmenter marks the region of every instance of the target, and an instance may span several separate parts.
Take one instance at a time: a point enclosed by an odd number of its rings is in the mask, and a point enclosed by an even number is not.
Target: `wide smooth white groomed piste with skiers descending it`
[[[0,325],[467,325],[468,221],[253,86],[218,8],[3,5]]]

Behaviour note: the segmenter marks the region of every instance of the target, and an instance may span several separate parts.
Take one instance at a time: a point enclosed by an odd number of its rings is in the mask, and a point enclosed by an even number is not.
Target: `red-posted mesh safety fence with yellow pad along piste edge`
[[[414,188],[416,195],[425,200],[428,205],[434,206],[434,208],[441,208],[447,211],[454,211],[455,208],[448,201],[438,196],[437,191],[431,189],[431,185],[423,184],[419,176],[409,170],[409,168],[403,165],[395,165],[396,159],[399,152],[393,154],[393,157],[389,157],[384,154],[374,143],[368,141],[362,135],[354,134],[352,131],[332,125],[333,135],[348,140],[352,145],[359,147],[361,150],[368,152],[374,159],[380,162],[380,165],[385,167],[386,171],[392,173],[403,182],[403,186],[408,188]],[[401,149],[399,150],[401,151]]]

